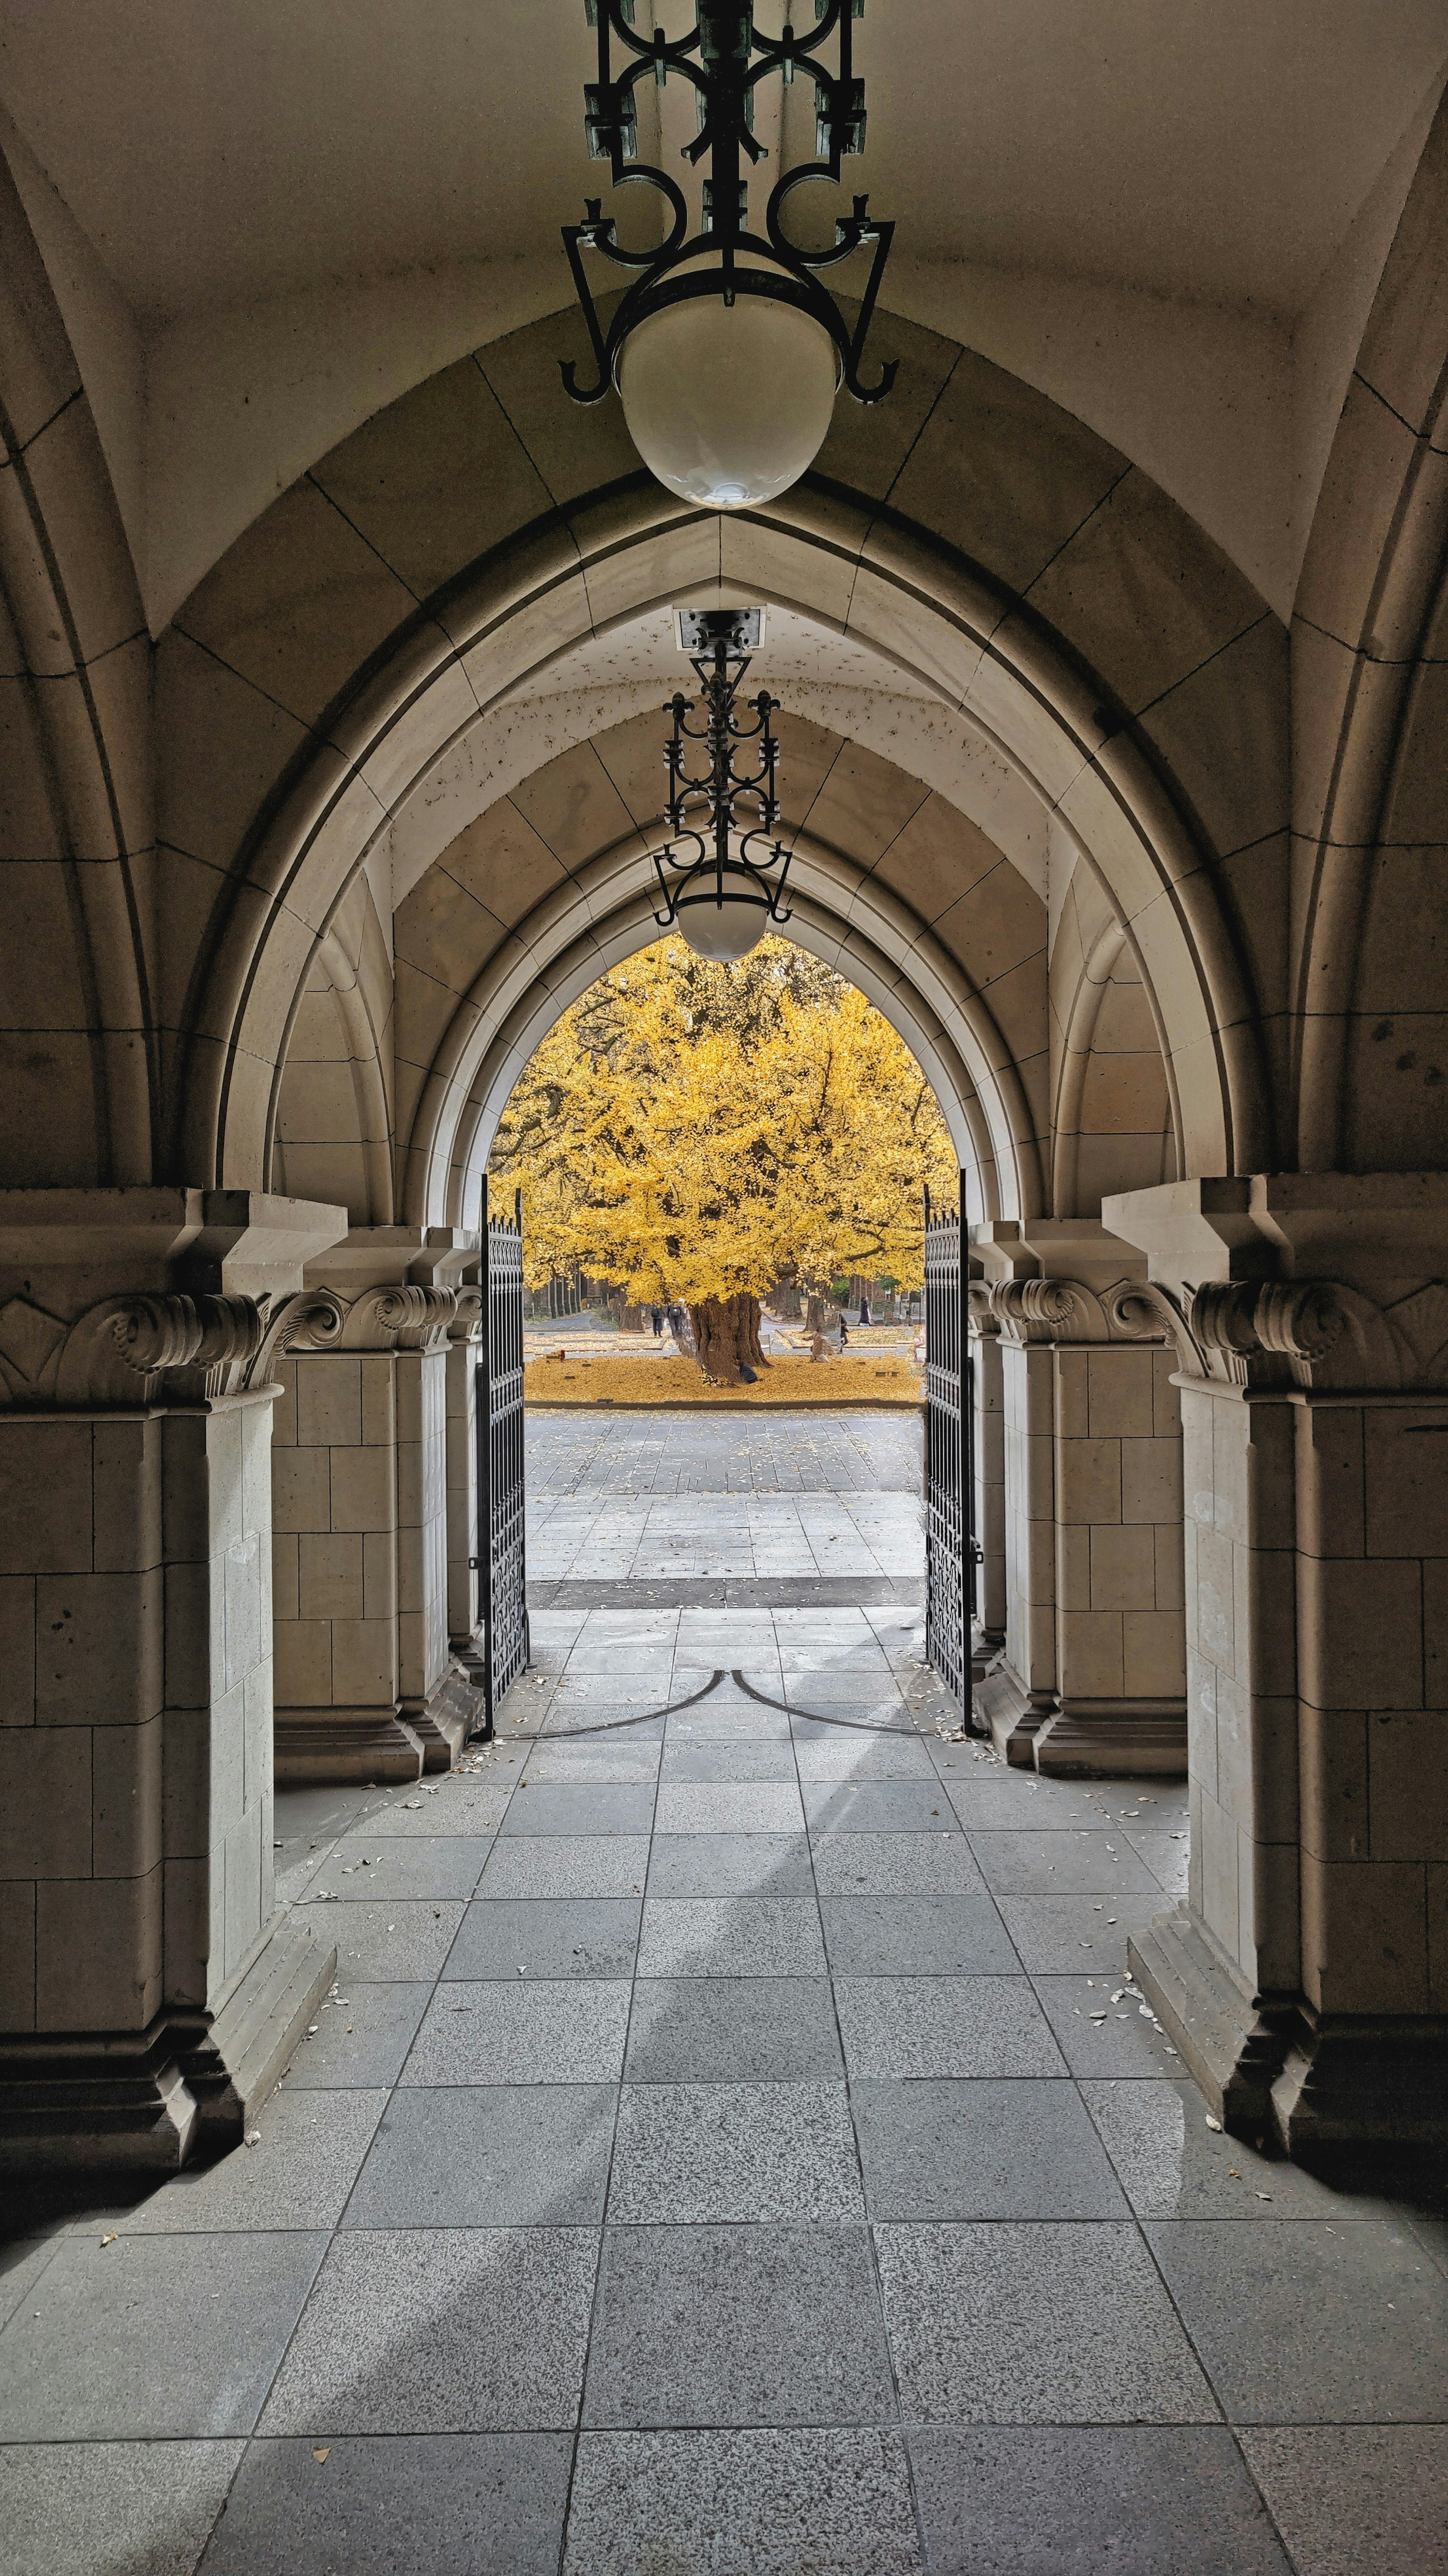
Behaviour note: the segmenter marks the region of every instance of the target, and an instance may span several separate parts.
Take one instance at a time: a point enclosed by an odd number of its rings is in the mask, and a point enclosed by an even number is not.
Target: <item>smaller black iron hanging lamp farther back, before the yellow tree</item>
[[[680,608],[678,618],[703,696],[691,701],[678,690],[665,708],[672,716],[665,817],[678,845],[670,840],[654,853],[665,899],[654,920],[660,930],[678,930],[701,958],[742,958],[770,922],[788,922],[788,850],[770,842],[778,824],[778,742],[770,726],[778,698],[763,688],[745,701],[747,714],[739,711],[739,685],[763,621],[763,608]],[[691,724],[691,714],[703,721]],[[698,778],[685,770],[691,742],[706,744]],[[739,770],[739,755],[755,768]],[[778,876],[768,873],[773,868]]]

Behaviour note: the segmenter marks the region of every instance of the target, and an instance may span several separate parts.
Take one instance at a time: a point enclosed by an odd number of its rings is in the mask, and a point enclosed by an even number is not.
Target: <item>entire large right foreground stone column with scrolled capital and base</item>
[[[1180,1352],[1188,1901],[1131,1963],[1219,2115],[1448,2133],[1448,1175],[1110,1200]]]

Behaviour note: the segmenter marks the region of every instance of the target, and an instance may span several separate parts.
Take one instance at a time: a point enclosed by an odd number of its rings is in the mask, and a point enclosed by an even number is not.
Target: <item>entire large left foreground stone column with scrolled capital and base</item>
[[[271,1311],[340,1208],[0,1193],[0,2164],[232,2143],[332,1976],[271,1860]]]

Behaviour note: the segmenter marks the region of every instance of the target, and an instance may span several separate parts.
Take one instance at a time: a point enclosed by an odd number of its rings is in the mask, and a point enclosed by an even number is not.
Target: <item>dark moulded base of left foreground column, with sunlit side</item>
[[[165,2174],[237,2146],[332,1984],[335,1945],[278,1917],[219,2009],[147,2030],[0,2038],[0,2174]]]

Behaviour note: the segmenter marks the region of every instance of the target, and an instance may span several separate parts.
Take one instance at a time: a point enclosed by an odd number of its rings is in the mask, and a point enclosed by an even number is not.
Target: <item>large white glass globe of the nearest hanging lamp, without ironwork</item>
[[[799,304],[768,296],[665,304],[629,332],[618,358],[639,456],[701,510],[747,510],[788,492],[824,443],[837,381],[830,332]]]

